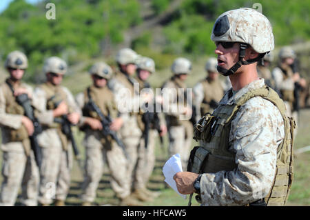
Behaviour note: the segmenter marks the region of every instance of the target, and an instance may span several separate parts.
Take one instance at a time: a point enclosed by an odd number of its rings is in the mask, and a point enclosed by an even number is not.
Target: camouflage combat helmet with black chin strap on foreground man
[[[218,66],[218,72],[228,76],[234,74],[242,65],[260,61],[265,54],[274,48],[271,23],[263,14],[252,8],[229,10],[218,17],[214,23],[211,40],[239,42],[239,61],[229,70]],[[245,49],[251,46],[259,56],[244,61]]]

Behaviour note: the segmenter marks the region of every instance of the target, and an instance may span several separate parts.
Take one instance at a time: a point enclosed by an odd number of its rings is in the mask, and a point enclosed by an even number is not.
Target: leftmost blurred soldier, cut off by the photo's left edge
[[[3,150],[0,205],[14,206],[19,187],[22,186],[21,203],[24,206],[37,206],[39,169],[34,161],[29,139],[34,132],[34,125],[24,116],[25,110],[17,102],[20,94],[27,94],[29,99],[33,98],[32,88],[21,82],[25,69],[28,68],[28,60],[22,52],[13,51],[8,54],[5,65],[10,77],[0,86]]]

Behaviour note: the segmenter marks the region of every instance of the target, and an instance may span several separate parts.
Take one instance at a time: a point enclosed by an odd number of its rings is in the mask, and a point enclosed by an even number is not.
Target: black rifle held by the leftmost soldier
[[[8,81],[6,81],[6,83],[14,94],[12,85]],[[19,94],[15,99],[17,103],[23,107],[25,117],[28,117],[28,119],[30,119],[30,121],[33,123],[34,132],[31,136],[29,136],[29,139],[31,149],[34,152],[34,159],[37,163],[37,166],[40,168],[42,164],[42,151],[37,141],[37,135],[42,132],[41,124],[39,123],[38,119],[34,117],[34,108],[31,105],[31,100],[29,99],[28,94]]]

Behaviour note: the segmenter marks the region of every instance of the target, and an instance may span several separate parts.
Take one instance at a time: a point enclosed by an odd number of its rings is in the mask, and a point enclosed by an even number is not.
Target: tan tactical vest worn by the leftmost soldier
[[[6,82],[11,83],[10,79],[6,79]],[[25,88],[25,86],[23,86],[23,83],[21,83],[20,87]],[[17,103],[16,97],[14,97],[14,94],[7,83],[3,83],[2,90],[6,99],[6,113],[24,115],[25,110],[23,110],[23,107],[19,105],[19,103]],[[25,153],[27,155],[30,154],[31,147],[29,135],[23,123],[21,123],[21,127],[19,129],[9,128],[6,126],[3,130],[3,135],[8,137],[8,140],[10,142],[22,142]]]

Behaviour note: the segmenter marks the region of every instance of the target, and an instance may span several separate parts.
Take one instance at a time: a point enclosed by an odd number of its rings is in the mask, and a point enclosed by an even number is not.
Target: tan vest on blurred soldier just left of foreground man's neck
[[[213,109],[210,107],[210,102],[212,99],[219,102],[223,98],[224,92],[222,86],[220,86],[220,81],[209,81],[204,79],[201,81],[203,85],[203,102],[200,104],[200,115],[204,115],[207,112],[212,112]]]

